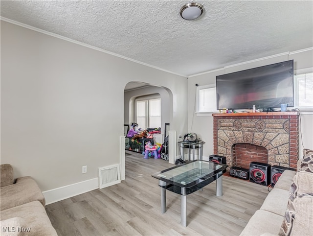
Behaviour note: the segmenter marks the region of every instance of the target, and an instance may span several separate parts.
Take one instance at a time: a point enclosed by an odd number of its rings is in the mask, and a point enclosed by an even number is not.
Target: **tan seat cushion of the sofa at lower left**
[[[1,211],[0,217],[1,221],[12,217],[22,218],[24,221],[24,225],[30,230],[27,235],[57,235],[55,229],[50,222],[49,217],[45,212],[44,206],[39,201],[29,202],[17,207]]]

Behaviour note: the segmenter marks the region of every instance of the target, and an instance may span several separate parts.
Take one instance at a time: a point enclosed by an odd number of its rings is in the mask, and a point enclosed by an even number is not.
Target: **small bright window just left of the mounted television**
[[[197,112],[216,112],[215,84],[197,87]]]

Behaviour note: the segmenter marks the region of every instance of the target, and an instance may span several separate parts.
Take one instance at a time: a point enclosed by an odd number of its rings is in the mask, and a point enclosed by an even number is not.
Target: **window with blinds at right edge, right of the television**
[[[295,73],[294,82],[294,107],[298,108],[300,111],[313,110],[313,73]]]

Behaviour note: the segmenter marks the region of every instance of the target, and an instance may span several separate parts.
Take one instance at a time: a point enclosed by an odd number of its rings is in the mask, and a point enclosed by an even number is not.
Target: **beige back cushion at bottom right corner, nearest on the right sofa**
[[[313,194],[296,196],[289,200],[280,236],[313,234]]]

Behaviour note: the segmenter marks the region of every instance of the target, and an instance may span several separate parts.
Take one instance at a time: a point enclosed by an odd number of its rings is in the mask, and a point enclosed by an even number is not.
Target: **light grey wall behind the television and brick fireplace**
[[[313,67],[313,50],[303,50],[291,53],[283,53],[268,58],[256,59],[246,63],[241,63],[227,68],[221,68],[215,71],[208,71],[188,78],[188,132],[195,132],[205,142],[203,145],[203,157],[208,157],[213,153],[213,117],[212,114],[199,115],[194,114],[196,86],[195,84],[208,85],[215,84],[216,76],[242,71],[250,68],[265,66],[277,62],[294,60],[294,70]],[[305,148],[313,148],[313,113],[302,113],[302,138]],[[192,130],[191,129],[192,126]],[[300,137],[301,139],[301,137]],[[302,155],[302,143],[299,143],[299,153]]]

